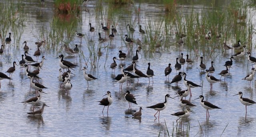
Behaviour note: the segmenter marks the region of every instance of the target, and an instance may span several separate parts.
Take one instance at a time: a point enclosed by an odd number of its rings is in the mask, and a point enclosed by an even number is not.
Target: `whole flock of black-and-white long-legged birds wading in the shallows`
[[[94,32],[95,29],[94,29],[94,27],[92,27],[92,24],[90,23],[89,25],[90,25],[90,30],[89,31]],[[133,33],[135,31],[134,28],[132,28],[129,24],[126,25],[126,26],[129,27],[130,32]],[[109,31],[108,27],[104,26],[103,24],[101,24],[101,27],[102,27],[103,31]],[[139,32],[140,32],[140,34],[143,35],[145,33],[145,31],[142,29],[141,25],[139,27],[140,27]],[[82,37],[84,37],[84,34],[78,33],[77,31],[75,31],[75,32],[76,32],[76,36],[78,38],[80,38],[81,41],[82,41]],[[110,40],[114,39],[114,34],[116,32],[117,32],[116,29],[114,28],[114,26],[112,26],[111,34],[109,35]],[[98,33],[98,34],[99,34],[99,39],[98,39],[99,43],[105,42],[106,39],[101,38],[100,33]],[[183,44],[182,37],[186,37],[186,35],[180,36],[181,39],[180,39],[180,41],[178,41],[178,44],[180,44],[180,43]],[[221,35],[220,35],[220,37],[221,37]],[[132,39],[128,38],[128,35],[125,35],[125,38],[126,38],[125,39],[126,44],[132,44],[134,42],[134,41],[132,41]],[[210,33],[207,33],[205,39],[211,39]],[[6,38],[5,42],[6,42],[6,45],[11,43],[11,33],[9,33],[9,37]],[[46,88],[44,85],[42,85],[38,82],[38,79],[40,79],[40,77],[38,77],[38,74],[40,73],[40,68],[43,67],[43,65],[44,65],[44,60],[46,60],[45,57],[42,56],[42,61],[40,63],[36,63],[38,61],[38,57],[41,55],[40,46],[42,46],[44,44],[44,41],[35,43],[38,47],[38,50],[34,53],[34,56],[36,57],[36,61],[28,55],[29,48],[26,44],[27,44],[26,41],[24,41],[24,48],[23,48],[24,49],[24,55],[22,55],[22,60],[19,62],[19,65],[20,65],[21,68],[25,69],[26,76],[28,76],[28,78],[30,79],[30,88],[36,90],[36,97],[30,98],[29,100],[26,100],[23,103],[29,103],[29,104],[35,105],[35,104],[38,104],[40,102],[40,99],[42,98],[42,93],[45,93],[42,90],[44,88]],[[223,43],[223,48],[225,50],[232,49],[232,48],[235,48],[235,49],[239,50],[240,47],[241,47],[240,44],[241,44],[240,41],[238,41],[238,43],[234,44],[233,47],[229,47],[228,45],[226,45],[226,43]],[[0,49],[1,57],[2,57],[2,54],[3,54],[3,51],[4,51],[4,47],[5,46],[2,45],[1,49]],[[68,55],[74,55],[74,54],[79,53],[78,45],[76,45],[76,47],[74,49],[69,48],[68,45],[63,45],[63,47],[64,47],[64,51]],[[130,82],[131,78],[137,78],[138,81],[139,81],[139,78],[145,77],[145,78],[148,78],[149,83],[150,83],[150,77],[151,77],[152,82],[154,82],[153,81],[154,71],[150,68],[150,63],[148,63],[148,69],[146,71],[146,74],[144,74],[142,71],[137,69],[136,63],[138,63],[138,59],[139,59],[138,54],[139,53],[140,53],[140,51],[136,50],[136,55],[132,58],[132,64],[130,66],[126,67],[126,68],[124,68],[124,64],[122,64],[121,65],[121,74],[118,74],[115,77],[115,80],[117,80],[117,82],[120,83],[120,88],[119,88],[120,92],[122,92],[122,84],[124,82],[127,82],[127,86],[128,86],[128,82]],[[225,81],[225,77],[229,75],[229,69],[232,67],[232,63],[233,63],[232,59],[241,58],[246,54],[248,54],[248,61],[250,61],[252,63],[256,63],[256,58],[251,57],[250,52],[246,52],[246,46],[243,46],[242,51],[232,55],[232,57],[230,57],[230,61],[226,61],[225,65],[224,65],[226,69],[222,70],[220,73],[218,73],[218,74],[221,75],[220,78],[222,78],[222,76],[223,76],[224,81]],[[72,68],[75,68],[75,67],[78,67],[78,66],[69,62],[69,61],[64,60],[64,55],[59,55],[57,58],[59,59],[59,67],[60,67],[58,80],[60,82],[62,82],[62,84],[60,85],[60,88],[65,88],[66,92],[70,93],[70,90],[72,89],[71,76],[70,75],[73,74],[71,72],[71,70],[72,70]],[[112,69],[112,72],[113,72],[113,70],[115,72],[115,69],[117,67],[116,60],[120,60],[121,63],[122,63],[122,61],[125,61],[126,60],[126,53],[124,53],[120,50],[118,58],[113,57],[113,63],[110,65],[110,68]],[[34,63],[34,64],[31,64],[31,63]],[[183,65],[183,68],[184,68],[185,63],[187,65],[191,65],[191,67],[192,67],[194,61],[192,59],[189,59],[189,55],[186,55],[186,59],[184,59],[183,58],[183,53],[181,53],[181,58],[176,58],[176,64],[174,66],[174,68],[176,69],[176,74],[177,74],[177,72],[178,72],[178,74],[176,76],[174,76],[174,78],[170,82],[169,82],[169,74],[172,72],[171,63],[169,63],[168,67],[166,67],[164,69],[164,74],[166,76],[166,82],[168,82],[170,84],[176,83],[178,85],[178,82],[180,82],[183,79],[183,82],[184,82],[185,86],[187,87],[187,90],[182,90],[182,91],[178,92],[177,93],[178,96],[176,96],[176,97],[180,97],[181,106],[186,107],[186,109],[184,111],[172,114],[172,115],[175,115],[175,116],[180,117],[180,118],[188,117],[190,115],[190,112],[194,113],[190,109],[190,107],[194,107],[196,105],[190,103],[189,100],[183,99],[183,97],[186,97],[190,94],[190,98],[191,98],[192,97],[191,88],[200,87],[200,85],[195,84],[194,82],[189,81],[189,80],[186,79],[186,75],[187,75],[186,72],[181,72],[182,65]],[[0,72],[0,80],[2,80],[2,79],[12,80],[12,78],[11,78],[12,73],[15,71],[15,66],[16,65],[17,65],[16,62],[13,62],[13,67],[10,67],[6,71],[7,73],[9,73],[9,76]],[[34,70],[33,72],[30,72],[31,67],[36,68],[36,70]],[[203,63],[203,57],[200,57],[199,68],[201,69],[201,72],[204,72],[204,70],[206,71],[205,72],[206,73],[206,80],[208,82],[210,82],[210,90],[212,90],[212,84],[221,81],[220,79],[215,78],[214,76],[212,76],[212,74],[215,72],[214,62],[212,61],[211,62],[211,67],[209,67],[209,69],[206,70],[206,65],[204,65],[204,63]],[[252,79],[254,77],[254,74],[255,74],[255,71],[256,71],[254,68],[255,67],[252,68],[252,74],[248,74],[245,78],[243,78],[244,80],[248,80],[250,82],[252,81]],[[62,70],[65,70],[65,69],[66,69],[66,72],[62,72]],[[91,74],[87,74],[86,69],[87,69],[87,67],[82,68],[84,79],[87,81],[87,88],[88,88],[89,87],[89,81],[96,80],[98,78],[92,76]],[[22,69],[21,69],[21,71],[22,71]],[[109,107],[113,102],[110,91],[107,91],[107,93],[105,95],[107,95],[108,97],[103,98],[101,101],[99,101],[100,102],[99,104],[103,105],[104,108],[105,108],[105,106]],[[236,95],[239,95],[240,102],[246,106],[246,114],[247,114],[247,106],[252,105],[252,104],[256,104],[256,102],[254,102],[254,101],[252,101],[248,98],[243,98],[242,97],[242,92],[239,92]],[[136,98],[128,90],[126,91],[124,98],[129,103],[129,108],[131,108],[132,103],[137,104]],[[166,94],[165,101],[163,103],[158,103],[158,104],[155,104],[153,106],[148,106],[146,108],[152,108],[154,110],[157,110],[156,114],[158,113],[158,119],[159,119],[160,111],[164,110],[166,108],[168,98],[172,98],[172,97],[170,97],[169,94]],[[208,110],[220,109],[218,106],[215,106],[215,105],[211,104],[210,102],[204,101],[204,96],[202,96],[202,95],[200,95],[199,98],[197,98],[197,99],[200,99],[200,104],[203,106],[203,108],[206,109],[206,118],[210,117]],[[47,105],[43,104],[42,108],[40,110],[37,110],[37,111],[34,111],[34,106],[33,106],[32,112],[29,112],[28,114],[30,114],[30,115],[42,115],[43,112],[44,112],[44,107],[45,106],[47,106]],[[102,113],[104,111],[104,108],[102,110]],[[141,111],[142,111],[142,107],[140,107],[139,112],[136,112],[133,115],[136,116],[136,117],[137,116],[140,117],[142,115]],[[107,110],[107,114],[108,114],[108,110]],[[156,117],[156,114],[154,115],[154,117]]]

